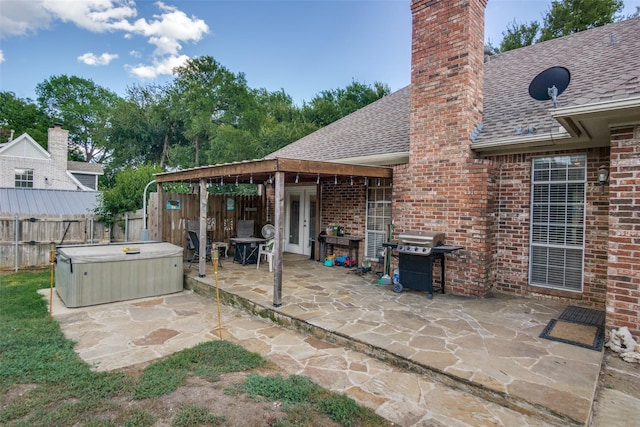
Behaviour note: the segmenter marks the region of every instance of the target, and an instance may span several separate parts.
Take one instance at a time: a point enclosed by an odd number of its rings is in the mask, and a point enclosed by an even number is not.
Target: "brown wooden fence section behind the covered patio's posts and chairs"
[[[188,221],[200,220],[198,194],[162,193],[162,240],[185,247]],[[265,199],[261,196],[209,195],[207,235],[214,242],[228,242],[236,235],[238,220],[253,220],[255,236],[265,224]],[[157,212],[149,217],[151,236],[156,228]]]

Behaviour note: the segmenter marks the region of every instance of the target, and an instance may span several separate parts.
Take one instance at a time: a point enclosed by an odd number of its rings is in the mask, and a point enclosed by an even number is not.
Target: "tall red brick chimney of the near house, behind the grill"
[[[482,122],[486,0],[412,0],[409,164],[394,174],[396,226],[446,233],[465,249],[447,286],[484,296],[493,282],[491,167],[470,135]]]

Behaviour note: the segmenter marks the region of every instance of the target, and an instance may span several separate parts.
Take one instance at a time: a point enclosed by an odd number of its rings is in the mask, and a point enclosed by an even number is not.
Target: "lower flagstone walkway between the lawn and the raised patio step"
[[[48,297],[48,292],[43,295]],[[163,321],[157,321],[154,325],[146,325],[146,330],[138,328],[139,336],[132,337],[130,330],[129,335],[125,335],[112,327],[113,319],[127,316],[135,324],[131,313],[137,310],[133,304],[145,300],[67,309],[56,296],[53,314],[65,336],[77,341],[75,350],[80,357],[99,371],[150,362],[198,342],[219,339],[215,301],[191,291],[160,299],[162,302],[151,308],[163,313],[162,316],[158,314],[158,318],[175,321],[176,312],[182,305],[176,302],[188,301],[192,310],[198,313],[191,315],[192,320],[201,323],[201,329],[197,332],[169,329]],[[221,309],[223,339],[262,354],[289,374],[305,375],[323,387],[346,393],[400,426],[547,425],[535,417],[430,381],[360,352],[273,325],[242,310],[224,305]],[[166,316],[166,312],[173,314]],[[83,322],[90,322],[95,329],[84,327]],[[168,334],[169,330],[172,332]],[[99,338],[91,338],[93,335]],[[171,337],[165,339],[168,335]]]

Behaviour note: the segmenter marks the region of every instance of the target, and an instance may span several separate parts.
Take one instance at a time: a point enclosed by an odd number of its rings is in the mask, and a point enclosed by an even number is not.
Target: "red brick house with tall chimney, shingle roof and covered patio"
[[[413,0],[410,86],[266,159],[160,174],[160,189],[264,183],[276,305],[279,254],[308,254],[322,230],[371,258],[390,231],[437,232],[463,248],[447,292],[606,309],[639,335],[640,18],[486,57],[485,6]]]

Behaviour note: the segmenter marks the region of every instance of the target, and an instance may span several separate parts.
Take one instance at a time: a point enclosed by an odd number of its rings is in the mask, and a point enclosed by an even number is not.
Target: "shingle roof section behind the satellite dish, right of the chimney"
[[[558,107],[639,96],[639,35],[640,18],[634,18],[492,56],[485,64],[484,128],[476,141],[512,137],[517,127],[534,126],[538,134],[557,127],[549,117],[552,102],[528,92],[531,80],[550,67],[571,73]]]

